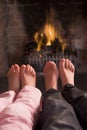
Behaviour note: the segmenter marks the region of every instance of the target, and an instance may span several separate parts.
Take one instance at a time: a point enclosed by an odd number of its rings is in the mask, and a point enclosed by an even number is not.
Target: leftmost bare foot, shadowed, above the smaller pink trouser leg
[[[17,64],[11,66],[7,74],[9,90],[13,90],[16,93],[20,90],[20,67]]]

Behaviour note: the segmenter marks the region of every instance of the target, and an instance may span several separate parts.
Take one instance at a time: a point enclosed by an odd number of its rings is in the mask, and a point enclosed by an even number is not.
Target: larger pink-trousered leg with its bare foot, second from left
[[[36,73],[30,65],[21,66],[22,89],[13,104],[0,115],[0,130],[32,130],[39,111],[41,92],[35,88]]]

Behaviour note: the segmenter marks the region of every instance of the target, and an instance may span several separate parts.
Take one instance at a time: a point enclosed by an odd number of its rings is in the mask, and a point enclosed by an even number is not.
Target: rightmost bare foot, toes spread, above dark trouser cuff
[[[65,84],[72,84],[74,85],[74,72],[75,67],[68,59],[61,59],[59,62],[59,74],[62,82],[62,87]]]

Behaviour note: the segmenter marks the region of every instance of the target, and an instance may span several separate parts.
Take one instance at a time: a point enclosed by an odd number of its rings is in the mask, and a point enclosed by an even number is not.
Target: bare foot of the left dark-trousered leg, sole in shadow
[[[57,80],[58,80],[58,69],[54,62],[48,61],[44,67],[44,76],[46,91],[54,88],[57,89]]]

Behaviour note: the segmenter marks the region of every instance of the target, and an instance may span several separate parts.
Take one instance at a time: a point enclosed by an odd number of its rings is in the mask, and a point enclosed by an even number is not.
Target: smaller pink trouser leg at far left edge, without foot
[[[0,113],[13,102],[15,98],[15,92],[14,91],[7,91],[2,94],[0,94]]]

